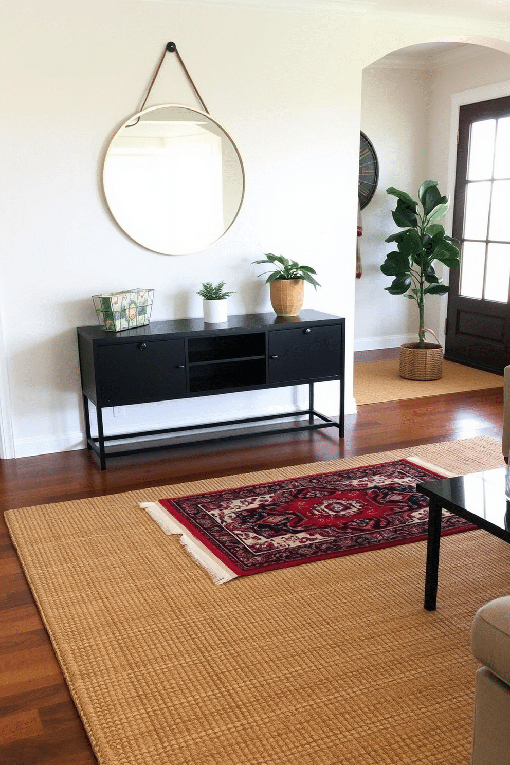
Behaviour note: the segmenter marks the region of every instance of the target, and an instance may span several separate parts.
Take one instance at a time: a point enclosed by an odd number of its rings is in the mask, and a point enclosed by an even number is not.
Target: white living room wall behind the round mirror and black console
[[[250,262],[268,251],[317,269],[323,287],[307,291],[305,307],[346,316],[346,408],[354,411],[362,69],[372,57],[438,38],[440,27],[140,0],[0,4],[0,318],[2,390],[10,391],[0,409],[2,418],[10,410],[15,456],[83,447],[75,327],[96,324],[91,295],[154,287],[154,320],[196,316],[200,282],[223,278],[236,290],[231,313],[265,311],[267,288]],[[471,22],[455,24],[473,34]],[[510,42],[510,28],[492,31]],[[179,257],[123,236],[99,182],[109,138],[138,109],[169,40],[238,143],[247,178],[226,236]],[[148,105],[195,105],[168,58]],[[275,411],[299,395],[281,389],[132,407],[125,428]],[[323,386],[317,407],[336,412],[335,384]]]

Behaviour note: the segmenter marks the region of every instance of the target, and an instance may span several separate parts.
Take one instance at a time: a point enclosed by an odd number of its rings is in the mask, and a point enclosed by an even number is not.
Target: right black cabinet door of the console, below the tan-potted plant
[[[269,382],[338,377],[342,373],[342,343],[341,325],[271,331]]]

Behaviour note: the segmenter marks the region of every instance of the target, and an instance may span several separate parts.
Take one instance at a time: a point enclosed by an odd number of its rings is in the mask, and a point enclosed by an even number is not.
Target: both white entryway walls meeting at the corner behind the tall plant
[[[363,275],[356,280],[355,350],[397,347],[417,339],[417,305],[385,292],[391,279],[380,271],[391,247],[384,240],[398,230],[391,219],[396,200],[385,189],[395,186],[417,198],[421,181],[433,178],[444,194],[452,195],[453,202],[453,177],[448,174],[450,134],[456,129],[451,125],[452,95],[505,80],[510,80],[510,55],[489,48],[430,70],[379,68],[377,63],[364,70],[362,130],[378,151],[381,178],[363,213]],[[447,227],[449,224],[450,214],[445,220]],[[440,266],[437,272],[441,275]],[[448,272],[443,273],[443,281],[448,283]],[[446,296],[430,296],[426,304],[425,324],[440,340],[446,305]]]

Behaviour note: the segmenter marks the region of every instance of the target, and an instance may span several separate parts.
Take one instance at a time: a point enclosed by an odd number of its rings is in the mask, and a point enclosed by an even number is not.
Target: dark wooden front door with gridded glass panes
[[[510,96],[460,107],[444,357],[502,372],[510,364]]]

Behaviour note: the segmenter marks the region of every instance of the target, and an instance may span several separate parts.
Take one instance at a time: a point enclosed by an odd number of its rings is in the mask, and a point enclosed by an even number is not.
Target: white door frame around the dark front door
[[[450,148],[448,151],[448,175],[447,175],[447,188],[455,189],[455,174],[456,174],[456,157],[457,157],[457,131],[459,128],[459,111],[461,106],[466,106],[468,103],[478,103],[479,101],[489,101],[493,98],[502,98],[503,96],[510,96],[510,80],[505,80],[502,83],[492,83],[492,85],[484,85],[479,88],[472,88],[471,90],[460,90],[459,93],[452,93],[451,95],[451,111],[450,111]],[[452,192],[453,194],[453,192]],[[453,202],[453,199],[452,199]],[[447,220],[445,228],[451,233],[453,219],[453,203],[450,204],[450,210],[447,213]],[[443,269],[443,283],[449,284],[450,272],[448,269]],[[444,347],[446,336],[444,332],[444,325],[447,321],[447,308],[448,308],[448,296],[446,300],[440,301],[439,308],[439,327],[440,335],[439,340]]]

